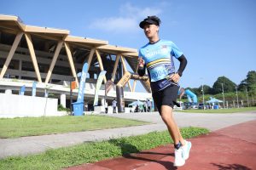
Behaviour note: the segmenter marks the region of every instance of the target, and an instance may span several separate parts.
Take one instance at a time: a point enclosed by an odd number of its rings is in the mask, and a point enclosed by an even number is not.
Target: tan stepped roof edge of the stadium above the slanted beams
[[[43,37],[44,39],[63,41],[72,44],[73,46],[82,46],[87,48],[96,48],[100,52],[108,54],[121,54],[125,57],[128,64],[133,71],[137,70],[137,49],[125,48],[116,45],[108,44],[108,41],[92,39],[87,37],[73,37],[70,35],[70,31],[55,29],[42,26],[27,26],[20,20],[19,17],[13,15],[0,14],[0,29],[12,34],[18,34],[19,32],[32,34],[37,37]],[[142,82],[144,87],[145,84]],[[146,87],[147,88],[147,87]],[[147,88],[148,91],[150,89]]]

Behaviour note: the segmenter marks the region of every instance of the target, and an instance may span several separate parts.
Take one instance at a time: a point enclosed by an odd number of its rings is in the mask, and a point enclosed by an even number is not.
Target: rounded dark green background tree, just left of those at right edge
[[[224,88],[224,93],[234,92],[236,88],[236,83],[230,81],[227,77],[218,77],[217,81],[214,82],[212,86],[212,94],[220,94],[222,93],[222,83]]]

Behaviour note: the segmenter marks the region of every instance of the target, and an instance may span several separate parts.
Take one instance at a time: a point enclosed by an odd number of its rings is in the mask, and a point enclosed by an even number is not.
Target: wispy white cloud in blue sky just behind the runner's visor
[[[119,16],[96,19],[90,23],[90,28],[121,33],[138,31],[138,24],[141,20],[149,15],[158,15],[161,12],[160,8],[138,8],[131,5],[131,3],[125,3],[119,8]]]

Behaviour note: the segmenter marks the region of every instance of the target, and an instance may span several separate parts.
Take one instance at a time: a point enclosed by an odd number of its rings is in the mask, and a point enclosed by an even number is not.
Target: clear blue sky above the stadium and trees
[[[148,42],[138,25],[157,15],[160,38],[174,42],[188,59],[181,87],[212,87],[223,76],[239,84],[248,71],[256,71],[254,0],[6,0],[0,14],[127,48]],[[178,68],[177,59],[175,64]]]

